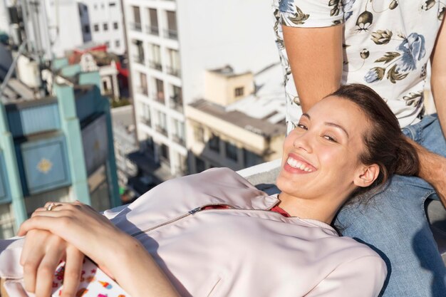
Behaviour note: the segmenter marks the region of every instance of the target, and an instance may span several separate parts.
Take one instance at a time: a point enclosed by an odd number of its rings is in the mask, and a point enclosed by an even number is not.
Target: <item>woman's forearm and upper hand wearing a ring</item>
[[[21,225],[19,235],[35,229],[49,231],[72,244],[110,273],[130,296],[178,296],[139,241],[85,204],[63,203],[52,211],[39,209]]]

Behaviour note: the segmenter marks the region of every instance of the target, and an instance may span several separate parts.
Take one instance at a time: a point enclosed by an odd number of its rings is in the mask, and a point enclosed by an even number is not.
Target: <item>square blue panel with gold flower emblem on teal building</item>
[[[29,194],[45,192],[71,183],[63,135],[24,142],[20,148]]]

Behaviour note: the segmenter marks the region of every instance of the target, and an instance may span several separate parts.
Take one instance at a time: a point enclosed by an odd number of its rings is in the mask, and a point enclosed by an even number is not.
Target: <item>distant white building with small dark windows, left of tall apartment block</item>
[[[108,52],[125,53],[123,9],[120,0],[77,0],[83,42],[105,44]]]

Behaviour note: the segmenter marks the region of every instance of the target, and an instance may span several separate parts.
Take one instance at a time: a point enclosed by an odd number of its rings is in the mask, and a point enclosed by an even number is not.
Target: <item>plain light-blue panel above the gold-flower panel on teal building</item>
[[[57,103],[8,110],[8,122],[13,137],[58,130],[61,127]]]

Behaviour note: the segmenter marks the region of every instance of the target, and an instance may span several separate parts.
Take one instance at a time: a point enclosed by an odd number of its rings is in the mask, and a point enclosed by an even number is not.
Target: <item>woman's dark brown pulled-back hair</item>
[[[365,151],[359,160],[365,165],[380,167],[378,178],[367,188],[358,188],[351,195],[358,196],[375,187],[378,192],[392,174],[414,175],[419,170],[418,155],[413,145],[405,139],[392,110],[383,98],[366,85],[343,85],[331,95],[349,100],[363,111],[370,128],[363,135]]]

